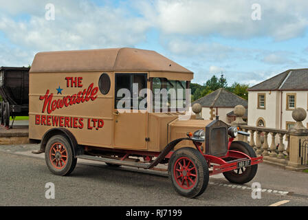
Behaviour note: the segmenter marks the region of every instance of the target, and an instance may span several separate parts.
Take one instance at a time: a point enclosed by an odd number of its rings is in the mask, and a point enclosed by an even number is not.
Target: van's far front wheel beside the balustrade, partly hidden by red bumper
[[[254,149],[246,142],[232,142],[230,150],[240,151],[250,157],[256,157]],[[223,173],[223,175],[225,179],[228,179],[233,184],[245,184],[254,178],[256,170],[258,170],[258,164],[231,170]]]

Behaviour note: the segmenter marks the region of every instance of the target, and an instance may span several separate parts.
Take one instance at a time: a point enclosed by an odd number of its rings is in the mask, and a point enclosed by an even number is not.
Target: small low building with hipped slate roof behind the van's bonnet
[[[202,111],[201,117],[204,119],[214,120],[216,116],[219,116],[219,120],[222,120],[226,123],[231,123],[235,120],[235,115],[233,113],[234,107],[241,104],[243,107],[248,107],[248,101],[236,96],[232,92],[226,89],[217,89],[211,94],[203,96],[192,104],[199,103],[201,104]],[[247,111],[243,116],[243,119],[247,119]]]

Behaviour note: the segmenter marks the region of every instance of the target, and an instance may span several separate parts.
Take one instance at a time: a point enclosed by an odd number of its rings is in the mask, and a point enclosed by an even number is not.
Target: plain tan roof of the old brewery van
[[[193,74],[152,50],[113,48],[40,52],[34,57],[30,73],[43,72],[151,71]]]

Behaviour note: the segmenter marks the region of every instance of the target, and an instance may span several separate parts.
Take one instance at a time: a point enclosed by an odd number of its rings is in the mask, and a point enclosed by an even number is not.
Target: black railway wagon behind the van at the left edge
[[[0,67],[0,121],[10,126],[10,116],[29,115],[28,67]]]

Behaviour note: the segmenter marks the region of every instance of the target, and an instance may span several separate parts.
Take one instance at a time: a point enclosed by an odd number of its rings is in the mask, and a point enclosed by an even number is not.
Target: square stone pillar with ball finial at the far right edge
[[[303,126],[303,120],[307,117],[306,110],[296,108],[292,111],[292,118],[296,120],[296,124],[289,129],[289,163],[287,169],[301,170],[308,168],[301,164],[300,149],[303,141],[308,139],[308,129]]]

